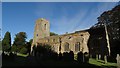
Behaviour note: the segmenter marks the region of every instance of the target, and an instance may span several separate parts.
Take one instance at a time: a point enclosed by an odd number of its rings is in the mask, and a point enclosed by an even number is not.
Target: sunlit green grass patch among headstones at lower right
[[[92,58],[89,59],[89,63],[96,65],[96,66],[103,67],[103,68],[117,68],[117,63],[108,62],[108,63],[104,64],[103,60],[95,60]]]

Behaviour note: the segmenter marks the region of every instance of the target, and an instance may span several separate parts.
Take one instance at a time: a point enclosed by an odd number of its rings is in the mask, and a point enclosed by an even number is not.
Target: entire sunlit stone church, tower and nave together
[[[47,44],[52,47],[52,50],[57,53],[73,51],[74,54],[78,52],[87,52],[88,49],[88,39],[90,34],[87,30],[77,31],[74,33],[68,33],[57,36],[50,36],[50,23],[46,19],[38,19],[34,28],[34,38],[31,46],[31,51],[33,46],[38,44]]]

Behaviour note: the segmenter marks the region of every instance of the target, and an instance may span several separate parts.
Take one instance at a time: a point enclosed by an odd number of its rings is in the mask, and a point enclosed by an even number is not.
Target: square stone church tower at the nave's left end
[[[50,24],[46,19],[40,18],[36,20],[32,47],[39,42],[39,39],[50,36],[49,28]]]

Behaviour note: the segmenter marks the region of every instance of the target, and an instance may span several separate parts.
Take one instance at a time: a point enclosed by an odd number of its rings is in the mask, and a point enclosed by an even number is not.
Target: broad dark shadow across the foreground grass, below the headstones
[[[84,68],[84,67],[92,67],[92,68],[100,68],[95,65],[91,65],[89,63],[80,63],[77,61],[59,61],[59,60],[42,60],[37,61],[35,57],[28,56],[14,56],[14,58],[3,58],[2,60],[2,68]]]

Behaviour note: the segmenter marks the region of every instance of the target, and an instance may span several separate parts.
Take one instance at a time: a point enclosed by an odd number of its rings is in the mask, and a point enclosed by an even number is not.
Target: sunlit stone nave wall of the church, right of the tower
[[[79,33],[71,33],[71,34],[64,34],[59,36],[49,36],[45,38],[39,39],[39,43],[48,44],[52,46],[52,49],[59,53],[73,51],[75,54],[78,52],[87,52],[88,50],[88,39],[90,34],[87,31],[81,31]],[[60,42],[61,41],[61,42]],[[66,50],[65,46],[68,45],[68,50]],[[76,47],[78,46],[78,47]],[[61,47],[61,50],[60,50]],[[75,50],[77,49],[77,51]]]

